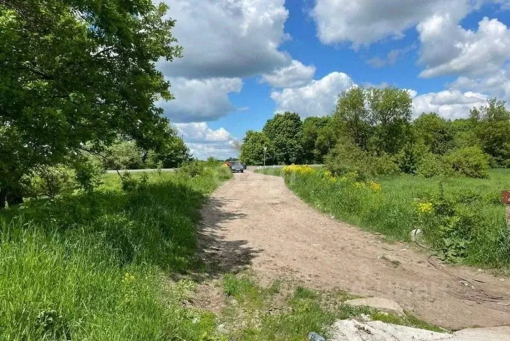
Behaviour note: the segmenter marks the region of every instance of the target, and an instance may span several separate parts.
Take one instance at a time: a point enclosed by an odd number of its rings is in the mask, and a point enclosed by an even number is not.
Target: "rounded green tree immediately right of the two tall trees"
[[[423,113],[413,122],[417,140],[422,141],[432,153],[445,154],[453,149],[451,122],[436,113]]]

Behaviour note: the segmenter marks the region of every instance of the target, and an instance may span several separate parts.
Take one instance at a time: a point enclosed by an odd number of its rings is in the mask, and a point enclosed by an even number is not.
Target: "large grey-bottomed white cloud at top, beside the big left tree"
[[[285,0],[164,0],[183,58],[161,61],[166,76],[244,77],[289,65]]]

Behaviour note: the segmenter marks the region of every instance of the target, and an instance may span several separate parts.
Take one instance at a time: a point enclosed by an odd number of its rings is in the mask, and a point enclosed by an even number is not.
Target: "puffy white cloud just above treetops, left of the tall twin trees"
[[[329,115],[335,108],[338,94],[352,87],[351,78],[343,72],[331,72],[299,88],[273,91],[276,112],[292,111],[301,117]]]

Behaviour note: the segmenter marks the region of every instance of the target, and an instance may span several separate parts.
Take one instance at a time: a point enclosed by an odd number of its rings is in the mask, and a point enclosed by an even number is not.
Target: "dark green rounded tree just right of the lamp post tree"
[[[299,163],[302,159],[301,118],[296,113],[276,114],[267,120],[262,131],[269,138],[278,164]]]

